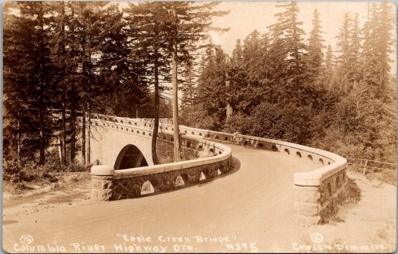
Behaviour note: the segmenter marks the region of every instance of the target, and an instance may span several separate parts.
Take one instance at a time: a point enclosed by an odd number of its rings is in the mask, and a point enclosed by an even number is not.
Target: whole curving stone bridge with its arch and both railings
[[[169,119],[160,119],[159,142],[174,141],[171,124]],[[283,193],[295,195],[292,205],[300,224],[316,224],[333,212],[333,199],[345,189],[347,183],[346,159],[298,144],[180,125],[181,146],[198,151],[199,159],[154,165],[151,119],[96,115],[92,118],[92,125],[91,161],[100,164],[91,169],[95,200],[134,198],[216,178],[231,169],[231,147],[236,145],[247,147],[247,156],[253,148],[263,149],[264,153],[276,153],[276,158],[282,162],[293,160],[298,168],[303,169],[288,177],[294,184],[295,193],[286,190],[287,193]],[[262,163],[275,162],[264,160]],[[241,170],[261,170],[263,167],[258,165],[256,169],[250,169],[244,166],[241,165]],[[284,170],[283,166],[280,170]]]

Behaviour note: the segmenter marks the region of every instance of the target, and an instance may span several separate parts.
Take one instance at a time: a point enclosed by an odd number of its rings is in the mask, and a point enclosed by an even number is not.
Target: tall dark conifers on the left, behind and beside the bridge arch
[[[77,153],[80,163],[90,165],[93,113],[154,118],[152,157],[157,164],[159,117],[178,114],[178,83],[183,89],[193,85],[194,53],[208,30],[227,30],[210,27],[213,16],[228,13],[213,10],[217,4],[6,3],[4,172],[23,171],[27,162],[46,167],[51,164],[46,157],[57,148],[62,165],[75,167]],[[175,99],[165,86],[171,81]],[[173,118],[176,124],[178,117]]]

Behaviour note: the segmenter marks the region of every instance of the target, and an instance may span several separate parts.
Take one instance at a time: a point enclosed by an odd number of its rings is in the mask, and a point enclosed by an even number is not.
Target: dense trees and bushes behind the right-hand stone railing
[[[374,3],[362,28],[358,14],[346,14],[334,52],[316,9],[304,41],[297,4],[277,6],[269,33],[238,39],[231,56],[207,48],[185,124],[395,162],[394,6]]]

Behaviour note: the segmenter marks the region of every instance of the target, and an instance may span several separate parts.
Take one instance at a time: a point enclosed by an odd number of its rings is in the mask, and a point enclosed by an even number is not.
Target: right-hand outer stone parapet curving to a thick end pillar
[[[240,146],[250,146],[294,156],[299,160],[310,160],[319,166],[310,172],[297,172],[294,175],[296,192],[296,219],[301,225],[317,224],[336,212],[336,200],[346,190],[347,160],[336,154],[302,146],[290,142],[267,138],[224,133],[180,126],[180,130],[204,138],[234,142]]]

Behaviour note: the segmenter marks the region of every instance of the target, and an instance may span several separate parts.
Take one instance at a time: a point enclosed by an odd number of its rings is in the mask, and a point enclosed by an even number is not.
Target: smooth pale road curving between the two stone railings
[[[61,246],[66,252],[79,252],[73,243],[80,245],[80,252],[89,252],[82,246],[103,246],[93,253],[145,253],[144,246],[153,248],[147,252],[294,251],[292,243],[302,242],[302,236],[293,222],[293,174],[315,166],[293,155],[228,146],[232,173],[177,191],[28,215],[3,225],[3,249],[16,252],[23,246],[20,237],[30,235],[34,240],[27,247],[36,248],[31,253],[40,251],[37,245],[44,245],[45,252],[56,252],[51,249],[55,247],[62,252]],[[125,241],[123,234],[133,241]],[[140,243],[140,236],[146,242]],[[173,242],[167,237],[187,239]],[[234,249],[228,249],[231,243]]]

